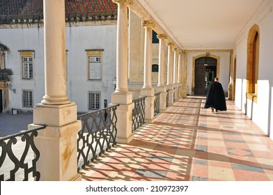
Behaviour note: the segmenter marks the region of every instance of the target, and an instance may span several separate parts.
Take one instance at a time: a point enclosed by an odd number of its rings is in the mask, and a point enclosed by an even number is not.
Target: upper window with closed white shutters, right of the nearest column
[[[103,50],[86,50],[88,59],[88,80],[102,80]]]

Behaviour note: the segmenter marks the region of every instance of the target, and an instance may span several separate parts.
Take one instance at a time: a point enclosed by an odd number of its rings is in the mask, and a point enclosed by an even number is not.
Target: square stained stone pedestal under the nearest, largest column
[[[36,137],[36,147],[40,152],[37,162],[40,180],[69,181],[79,178],[77,132],[81,130],[81,121],[77,120],[76,104],[36,104],[33,124],[29,125],[29,129],[40,125],[46,125]]]

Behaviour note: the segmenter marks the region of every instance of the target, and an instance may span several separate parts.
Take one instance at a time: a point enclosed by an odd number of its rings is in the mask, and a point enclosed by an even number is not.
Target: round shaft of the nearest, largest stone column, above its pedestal
[[[54,14],[53,14],[54,13]],[[45,96],[42,104],[68,104],[65,78],[65,1],[44,1]]]

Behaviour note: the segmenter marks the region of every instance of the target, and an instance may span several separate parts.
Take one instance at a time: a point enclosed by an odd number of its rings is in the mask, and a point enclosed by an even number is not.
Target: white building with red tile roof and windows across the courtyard
[[[68,97],[78,112],[86,112],[111,102],[116,76],[116,4],[78,3],[81,6],[65,1],[66,81]],[[1,13],[0,24],[0,111],[32,111],[45,93],[42,0],[1,6],[6,13]]]

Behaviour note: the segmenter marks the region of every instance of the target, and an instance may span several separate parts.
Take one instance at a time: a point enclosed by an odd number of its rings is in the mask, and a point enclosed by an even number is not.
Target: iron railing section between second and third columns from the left
[[[134,109],[132,110],[132,132],[141,127],[145,122],[145,99],[146,96],[133,100]]]

